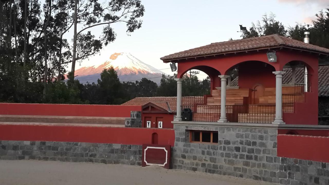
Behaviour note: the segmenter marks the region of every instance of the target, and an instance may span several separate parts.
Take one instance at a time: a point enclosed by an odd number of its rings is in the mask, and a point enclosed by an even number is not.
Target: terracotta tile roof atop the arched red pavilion
[[[307,44],[302,41],[293,40],[287,37],[279,36],[278,34],[240,39],[230,40],[225,42],[215,42],[209,45],[181,51],[171,55],[160,58],[163,61],[184,59],[198,56],[207,56],[214,54],[223,54],[229,52],[240,52],[252,49],[270,48],[273,46],[293,47],[297,49],[306,49],[313,52],[319,52],[322,54],[329,54],[329,49],[320,46]]]

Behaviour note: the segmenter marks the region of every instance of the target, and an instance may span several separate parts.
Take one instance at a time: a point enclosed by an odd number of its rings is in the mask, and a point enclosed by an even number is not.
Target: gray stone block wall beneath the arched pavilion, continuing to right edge
[[[174,125],[172,167],[280,184],[329,184],[329,163],[277,157],[277,129]],[[189,130],[218,131],[218,144],[190,143]]]

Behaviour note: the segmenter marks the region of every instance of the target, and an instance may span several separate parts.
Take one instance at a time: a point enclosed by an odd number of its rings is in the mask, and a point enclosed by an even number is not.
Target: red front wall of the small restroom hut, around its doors
[[[143,113],[142,114],[142,127],[146,127],[145,117],[151,118],[151,124],[155,123],[155,126],[158,127],[158,123],[156,122],[156,118],[163,118],[162,120],[162,128],[174,128],[174,125],[171,121],[174,120],[173,114],[167,113]]]

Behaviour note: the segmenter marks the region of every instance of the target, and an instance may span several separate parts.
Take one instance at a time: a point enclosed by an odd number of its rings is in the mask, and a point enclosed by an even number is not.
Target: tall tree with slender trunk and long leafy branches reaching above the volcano
[[[74,80],[76,60],[94,55],[99,52],[103,44],[107,45],[115,40],[116,34],[111,24],[125,22],[129,34],[141,27],[142,21],[139,18],[143,15],[144,6],[141,5],[140,0],[111,0],[103,5],[98,3],[97,0],[87,0],[86,3],[75,0],[71,79]],[[84,23],[84,28],[79,32],[77,32],[77,23]],[[82,34],[83,31],[100,25],[104,25],[100,40],[86,39],[88,37],[94,38],[90,31],[87,34]],[[79,39],[79,37],[82,39]],[[80,46],[89,45],[88,49],[82,49],[86,52],[79,57],[77,57],[77,40],[83,41],[79,44]]]

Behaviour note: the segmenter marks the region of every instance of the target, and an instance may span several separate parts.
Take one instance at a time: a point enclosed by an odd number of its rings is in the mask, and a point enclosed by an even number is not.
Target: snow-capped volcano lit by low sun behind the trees
[[[131,55],[130,53],[114,53],[109,60],[99,66],[81,67],[75,71],[81,83],[97,83],[100,73],[113,66],[118,74],[120,81],[140,80],[141,78],[150,78],[150,80],[159,83],[162,71],[147,65]]]

